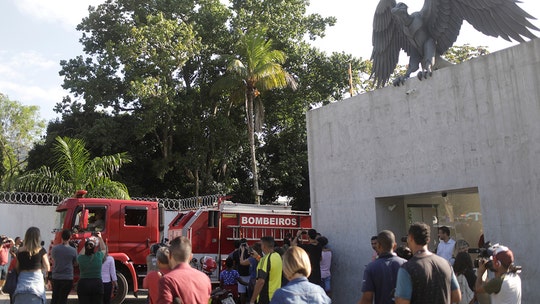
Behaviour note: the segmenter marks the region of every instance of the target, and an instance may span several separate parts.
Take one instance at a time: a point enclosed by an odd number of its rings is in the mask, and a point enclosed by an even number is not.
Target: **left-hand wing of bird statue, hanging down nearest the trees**
[[[385,85],[394,72],[400,50],[403,49],[409,53],[411,49],[403,34],[403,29],[392,17],[391,9],[394,6],[396,6],[395,0],[380,0],[373,17],[371,77],[376,87]]]

